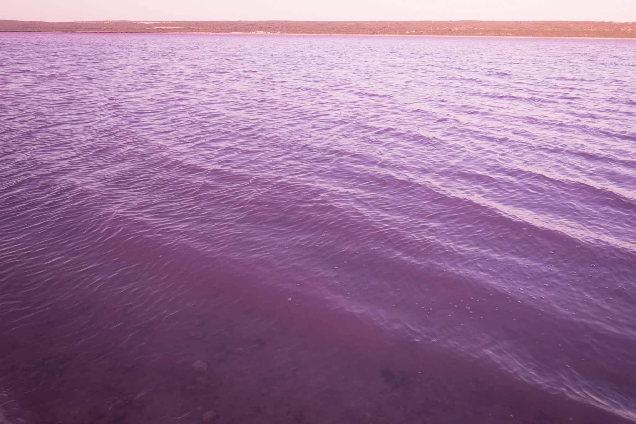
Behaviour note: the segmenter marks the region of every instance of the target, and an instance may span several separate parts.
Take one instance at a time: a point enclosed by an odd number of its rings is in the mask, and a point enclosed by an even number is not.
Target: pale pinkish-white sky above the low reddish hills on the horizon
[[[636,0],[2,0],[18,20],[636,21]]]

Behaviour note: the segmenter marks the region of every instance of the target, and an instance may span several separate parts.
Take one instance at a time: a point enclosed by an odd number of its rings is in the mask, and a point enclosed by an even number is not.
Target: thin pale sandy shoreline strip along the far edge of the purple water
[[[308,32],[281,32],[279,34],[256,34],[253,32],[183,32],[183,31],[15,31],[3,30],[0,32],[48,32],[53,34],[186,34],[186,35],[223,35],[223,36],[354,36],[354,37],[437,37],[437,38],[543,38],[543,39],[596,39],[596,40],[636,40],[633,37],[555,37],[555,36],[471,36],[471,35],[436,35],[436,34],[335,34],[325,32],[324,34],[314,34]]]

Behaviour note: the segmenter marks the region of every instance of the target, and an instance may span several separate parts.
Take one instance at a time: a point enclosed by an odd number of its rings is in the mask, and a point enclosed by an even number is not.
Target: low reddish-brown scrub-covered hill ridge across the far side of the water
[[[593,21],[87,21],[0,20],[0,31],[216,32],[504,37],[636,38],[636,22]]]

